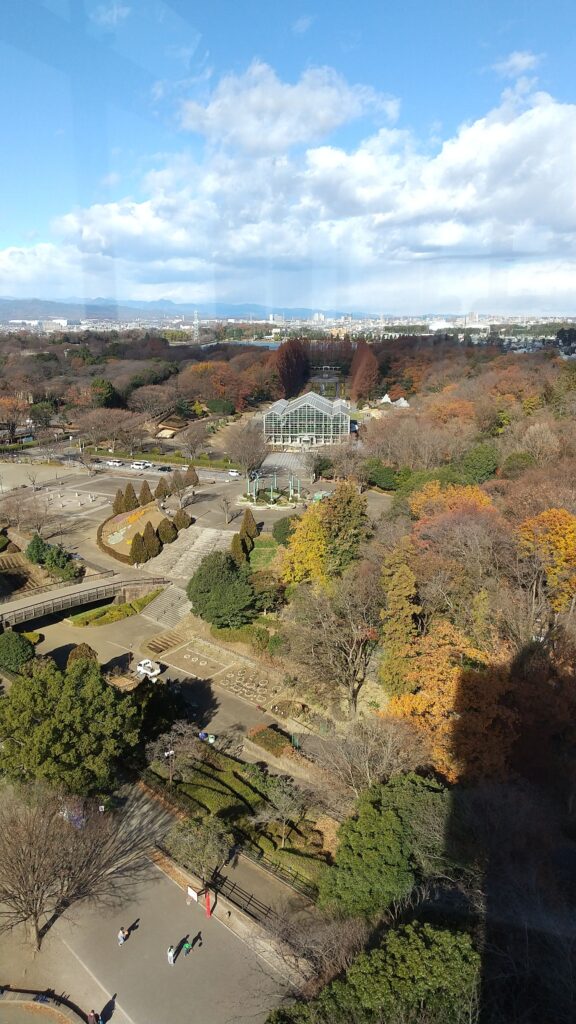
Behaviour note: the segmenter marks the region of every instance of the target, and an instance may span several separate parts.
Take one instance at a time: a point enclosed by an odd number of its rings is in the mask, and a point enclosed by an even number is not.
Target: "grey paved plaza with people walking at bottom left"
[[[135,922],[120,948],[119,929]],[[197,938],[193,952],[170,967],[168,946],[187,935]],[[22,934],[3,936],[0,962],[11,984],[66,991],[114,1024],[262,1024],[286,988],[250,945],[207,920],[198,904],[187,905],[182,890],[159,869],[121,908],[77,908],[37,956]]]

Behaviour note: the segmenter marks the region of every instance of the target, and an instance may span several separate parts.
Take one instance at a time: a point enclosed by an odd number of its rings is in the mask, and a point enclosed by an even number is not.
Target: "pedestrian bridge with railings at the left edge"
[[[50,587],[40,588],[42,597],[39,595],[34,597],[34,594],[29,591],[27,596],[19,598],[19,600],[6,601],[0,607],[0,626],[7,629],[10,626],[33,622],[35,618],[54,615],[58,611],[67,611],[69,608],[77,608],[82,604],[106,601],[109,598],[118,597],[127,587],[153,590],[154,587],[168,586],[169,584],[170,580],[166,580],[164,577],[126,579],[111,569],[109,572],[98,572],[88,577],[81,584],[70,584],[69,586],[56,584],[53,590]]]

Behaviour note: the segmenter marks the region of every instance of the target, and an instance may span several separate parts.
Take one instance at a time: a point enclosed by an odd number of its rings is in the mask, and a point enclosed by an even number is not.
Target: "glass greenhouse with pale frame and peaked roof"
[[[339,444],[349,437],[349,404],[308,391],[299,398],[281,398],[263,415],[270,444]]]

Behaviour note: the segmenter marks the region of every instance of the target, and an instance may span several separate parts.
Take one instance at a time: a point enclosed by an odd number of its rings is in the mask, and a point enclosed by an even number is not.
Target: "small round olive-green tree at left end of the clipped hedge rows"
[[[166,845],[174,857],[206,885],[228,860],[234,836],[223,821],[209,816],[203,820],[179,821],[168,833]]]

